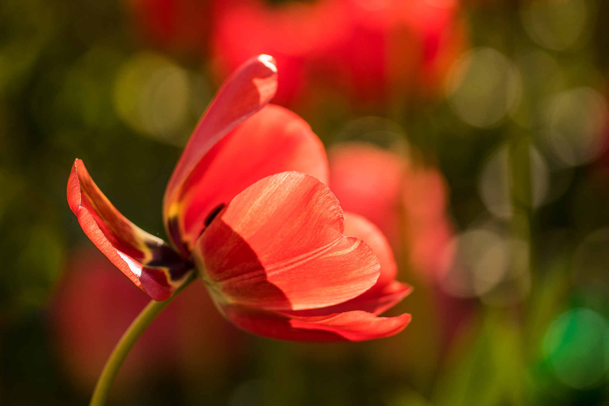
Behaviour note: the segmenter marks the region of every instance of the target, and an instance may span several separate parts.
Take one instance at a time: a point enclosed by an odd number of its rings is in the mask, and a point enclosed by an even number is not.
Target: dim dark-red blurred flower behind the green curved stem
[[[241,334],[204,291],[200,284],[189,287],[150,324],[121,368],[119,391],[151,378],[219,374],[230,367]],[[114,345],[149,300],[99,250],[72,253],[51,320],[58,355],[76,387],[94,387]]]

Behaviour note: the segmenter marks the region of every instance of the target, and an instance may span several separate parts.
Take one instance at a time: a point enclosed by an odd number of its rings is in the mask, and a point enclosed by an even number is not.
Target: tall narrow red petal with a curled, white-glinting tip
[[[167,231],[183,253],[171,218],[179,211],[183,184],[201,158],[223,136],[264,107],[275,96],[277,69],[269,55],[246,61],[220,88],[186,144],[165,190],[163,214]]]

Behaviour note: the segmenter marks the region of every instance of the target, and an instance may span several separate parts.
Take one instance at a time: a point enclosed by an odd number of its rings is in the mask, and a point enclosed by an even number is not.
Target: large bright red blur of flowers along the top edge
[[[225,77],[252,54],[281,71],[276,103],[290,105],[312,83],[360,102],[434,94],[463,46],[456,2],[319,0],[271,6],[216,2],[213,55]]]

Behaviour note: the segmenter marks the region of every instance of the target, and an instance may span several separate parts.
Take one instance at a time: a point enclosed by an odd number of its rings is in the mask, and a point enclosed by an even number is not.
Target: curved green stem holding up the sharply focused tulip
[[[171,298],[162,302],[151,300],[139,313],[138,317],[133,320],[127,331],[122,335],[121,340],[119,340],[114,347],[112,354],[110,354],[110,358],[106,361],[104,370],[99,376],[99,379],[97,379],[97,385],[95,385],[95,390],[93,391],[93,396],[91,396],[89,406],[105,405],[112,382],[114,382],[116,374],[118,374],[119,369],[121,369],[121,365],[125,358],[127,358],[127,354],[129,354],[129,351],[131,351],[136,341],[138,341],[139,336],[142,335],[144,330],[152,323],[152,320],[157,317],[158,313],[160,313],[167,304],[171,303],[175,296],[191,284],[194,279],[196,279],[196,275],[195,272],[192,272],[191,276],[189,276],[180,288],[175,291]]]

